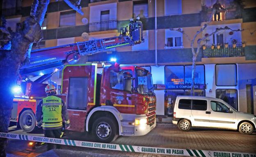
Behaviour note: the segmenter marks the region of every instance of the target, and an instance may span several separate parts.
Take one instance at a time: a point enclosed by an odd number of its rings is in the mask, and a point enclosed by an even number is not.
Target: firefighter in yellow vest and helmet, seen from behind
[[[47,97],[43,98],[37,106],[37,126],[43,127],[45,137],[60,138],[62,135],[62,117],[65,120],[65,127],[69,128],[69,115],[66,104],[59,97],[56,97],[56,88],[53,84],[45,88]],[[61,145],[57,145],[59,149]],[[54,144],[47,144],[47,150],[54,148]]]

